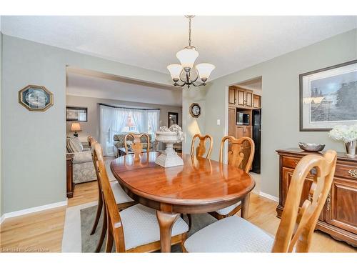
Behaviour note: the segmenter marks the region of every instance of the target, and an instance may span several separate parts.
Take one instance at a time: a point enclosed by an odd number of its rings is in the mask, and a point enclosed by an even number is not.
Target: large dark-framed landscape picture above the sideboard
[[[357,123],[357,60],[300,74],[300,131]]]

